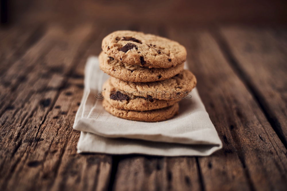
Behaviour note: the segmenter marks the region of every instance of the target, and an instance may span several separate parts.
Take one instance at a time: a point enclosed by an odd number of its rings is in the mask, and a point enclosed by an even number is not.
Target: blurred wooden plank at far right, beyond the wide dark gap
[[[286,28],[226,27],[220,40],[241,72],[269,123],[287,147]],[[219,34],[220,35],[220,34]]]

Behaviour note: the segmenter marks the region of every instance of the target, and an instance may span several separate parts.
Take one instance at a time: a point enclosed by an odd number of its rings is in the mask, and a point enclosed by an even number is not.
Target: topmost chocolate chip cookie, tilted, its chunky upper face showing
[[[129,30],[115,31],[102,41],[109,56],[131,65],[169,68],[186,60],[186,50],[178,42]]]

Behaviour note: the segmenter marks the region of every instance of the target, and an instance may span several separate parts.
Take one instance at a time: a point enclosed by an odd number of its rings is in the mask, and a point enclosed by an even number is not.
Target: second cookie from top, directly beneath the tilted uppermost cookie
[[[183,71],[184,64],[170,68],[148,68],[122,63],[104,52],[99,55],[100,69],[124,81],[151,82],[165,80]]]

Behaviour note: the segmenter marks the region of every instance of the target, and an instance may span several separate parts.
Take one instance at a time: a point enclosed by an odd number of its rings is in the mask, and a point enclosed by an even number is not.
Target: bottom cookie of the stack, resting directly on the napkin
[[[114,108],[108,101],[103,100],[103,107],[110,114],[117,116],[119,118],[124,118],[128,120],[135,121],[145,121],[145,122],[158,122],[164,121],[172,118],[179,111],[179,104],[175,103],[172,106],[168,106],[162,109],[149,110],[149,111],[133,111],[133,110],[121,110]]]

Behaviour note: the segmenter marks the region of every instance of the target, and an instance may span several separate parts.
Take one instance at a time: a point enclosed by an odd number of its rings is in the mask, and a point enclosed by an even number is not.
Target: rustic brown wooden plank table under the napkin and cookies
[[[185,45],[223,142],[208,157],[77,154],[85,62],[114,30]],[[1,190],[286,190],[287,30],[17,26],[0,30]]]

